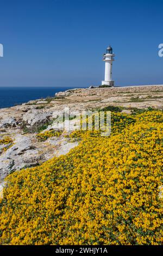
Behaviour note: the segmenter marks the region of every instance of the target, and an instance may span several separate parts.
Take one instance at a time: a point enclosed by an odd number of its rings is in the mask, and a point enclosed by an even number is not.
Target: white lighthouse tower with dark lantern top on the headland
[[[103,60],[105,62],[105,81],[102,81],[102,86],[114,86],[114,81],[112,81],[112,62],[114,61],[114,53],[112,53],[112,48],[106,49],[106,53],[103,54]]]

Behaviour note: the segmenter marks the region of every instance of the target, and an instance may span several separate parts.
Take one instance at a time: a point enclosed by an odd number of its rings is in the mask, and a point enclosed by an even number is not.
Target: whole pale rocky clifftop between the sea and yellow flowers
[[[38,139],[38,133],[52,129],[52,123],[65,107],[74,115],[84,109],[106,106],[121,106],[123,112],[129,113],[133,108],[162,109],[162,97],[163,86],[73,89],[52,98],[1,109],[0,182],[15,170],[66,154],[78,144],[69,141],[64,134],[49,136],[48,133],[45,139]]]

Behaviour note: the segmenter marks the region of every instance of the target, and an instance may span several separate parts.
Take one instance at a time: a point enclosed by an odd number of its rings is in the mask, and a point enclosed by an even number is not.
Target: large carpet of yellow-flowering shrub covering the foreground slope
[[[110,137],[85,132],[67,155],[9,175],[0,243],[161,245],[161,119],[147,112]]]

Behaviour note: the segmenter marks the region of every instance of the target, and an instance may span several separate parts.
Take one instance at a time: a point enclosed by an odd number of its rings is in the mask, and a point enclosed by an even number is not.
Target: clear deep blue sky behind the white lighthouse
[[[99,85],[111,44],[117,86],[163,84],[163,1],[1,1],[0,86]]]

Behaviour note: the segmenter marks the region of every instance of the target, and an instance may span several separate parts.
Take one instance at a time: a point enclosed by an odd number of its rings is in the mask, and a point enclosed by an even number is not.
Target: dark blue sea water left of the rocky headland
[[[0,108],[20,105],[29,100],[54,96],[71,87],[0,87]]]

